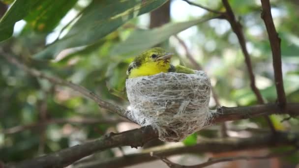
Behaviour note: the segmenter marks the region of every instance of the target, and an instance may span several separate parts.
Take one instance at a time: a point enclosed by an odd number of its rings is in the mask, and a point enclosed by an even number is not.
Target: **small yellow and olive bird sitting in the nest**
[[[194,74],[194,70],[170,63],[174,54],[167,52],[161,47],[151,48],[136,56],[129,64],[126,74],[128,78],[155,75],[161,72],[176,72],[184,74]]]

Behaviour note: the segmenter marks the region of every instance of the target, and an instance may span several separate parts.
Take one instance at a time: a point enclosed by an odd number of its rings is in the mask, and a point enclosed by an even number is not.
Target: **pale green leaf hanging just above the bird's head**
[[[171,35],[177,34],[180,31],[195,26],[206,20],[196,19],[188,22],[169,23],[159,28],[150,30],[135,30],[123,42],[116,45],[112,49],[112,55],[123,55],[134,52],[141,52],[151,48],[165,40]]]

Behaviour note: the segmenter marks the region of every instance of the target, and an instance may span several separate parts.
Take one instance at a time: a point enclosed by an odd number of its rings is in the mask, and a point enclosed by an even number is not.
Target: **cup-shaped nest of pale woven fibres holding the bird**
[[[131,107],[128,116],[157,129],[160,140],[183,140],[208,125],[210,82],[203,71],[131,78],[126,90]]]

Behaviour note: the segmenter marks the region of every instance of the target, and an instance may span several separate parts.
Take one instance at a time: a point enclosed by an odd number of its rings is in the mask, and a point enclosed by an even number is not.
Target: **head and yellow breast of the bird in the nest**
[[[148,73],[152,74],[155,74],[156,72],[166,72],[170,68],[170,58],[172,56],[173,54],[168,53],[163,48],[151,48],[135,57],[133,62],[128,67],[127,75],[130,75],[132,70],[138,69],[140,67],[143,67],[146,71],[149,71]]]

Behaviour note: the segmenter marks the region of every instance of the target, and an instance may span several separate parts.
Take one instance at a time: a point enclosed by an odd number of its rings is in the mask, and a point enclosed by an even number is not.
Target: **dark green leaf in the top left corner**
[[[16,0],[0,20],[0,41],[12,36],[16,22],[28,15],[30,8],[39,0]]]

